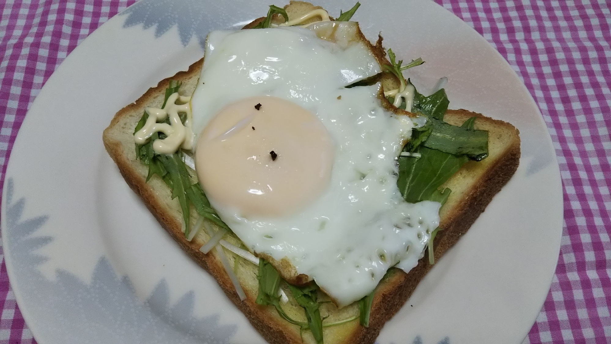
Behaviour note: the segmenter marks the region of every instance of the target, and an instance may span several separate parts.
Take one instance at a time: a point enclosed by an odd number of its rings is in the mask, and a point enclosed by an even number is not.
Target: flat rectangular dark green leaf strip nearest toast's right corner
[[[429,118],[433,130],[423,145],[453,155],[481,160],[488,156],[488,131],[468,129]]]

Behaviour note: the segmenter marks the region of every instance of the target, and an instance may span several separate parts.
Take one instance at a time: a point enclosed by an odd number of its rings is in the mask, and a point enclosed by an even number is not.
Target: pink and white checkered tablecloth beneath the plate
[[[27,109],[51,73],[134,0],[8,0],[0,20],[0,187]],[[564,191],[560,258],[524,343],[611,342],[611,13],[608,0],[436,0],[509,61],[552,136]],[[35,343],[0,247],[0,343]]]

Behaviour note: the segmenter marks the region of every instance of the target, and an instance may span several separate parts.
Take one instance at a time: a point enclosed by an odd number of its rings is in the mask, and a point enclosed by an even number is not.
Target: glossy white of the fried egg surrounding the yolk
[[[381,107],[379,84],[344,88],[379,72],[363,43],[327,42],[309,29],[214,31],[191,100],[196,135],[225,105],[254,95],[290,100],[323,122],[335,142],[331,182],[307,208],[246,218],[210,202],[251,250],[287,258],[340,306],[371,293],[389,267],[411,270],[439,225],[439,203],[406,203],[397,187],[411,119]]]

